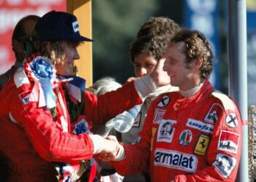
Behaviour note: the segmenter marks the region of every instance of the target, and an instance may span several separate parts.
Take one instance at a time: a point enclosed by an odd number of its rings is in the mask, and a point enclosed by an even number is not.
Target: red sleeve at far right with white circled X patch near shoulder
[[[233,106],[235,111],[224,110],[218,116],[208,146],[209,166],[192,175],[176,175],[175,181],[236,181],[243,124],[236,104]]]

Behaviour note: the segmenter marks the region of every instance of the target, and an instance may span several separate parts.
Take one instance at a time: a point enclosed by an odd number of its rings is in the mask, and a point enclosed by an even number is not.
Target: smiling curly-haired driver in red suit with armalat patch
[[[164,71],[178,92],[154,100],[138,143],[111,159],[121,175],[149,170],[151,181],[235,181],[241,155],[238,107],[208,81],[212,52],[199,31],[182,30],[165,53]],[[149,169],[148,169],[149,168]]]

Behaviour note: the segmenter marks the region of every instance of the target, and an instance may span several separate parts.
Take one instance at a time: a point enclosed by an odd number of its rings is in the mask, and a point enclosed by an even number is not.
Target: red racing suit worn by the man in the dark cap
[[[0,150],[8,158],[8,181],[57,181],[52,162],[72,163],[94,154],[89,135],[71,134],[62,83],[52,84],[56,107],[50,110],[39,107],[40,93],[33,89],[38,83],[26,68],[19,68],[0,92]],[[85,91],[83,115],[102,123],[141,102],[133,82],[98,97]]]

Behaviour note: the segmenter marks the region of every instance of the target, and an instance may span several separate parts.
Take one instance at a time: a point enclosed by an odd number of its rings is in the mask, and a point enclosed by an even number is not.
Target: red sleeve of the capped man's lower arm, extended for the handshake
[[[89,135],[71,135],[63,132],[53,122],[53,116],[38,102],[23,103],[22,93],[31,90],[30,84],[12,90],[10,118],[26,132],[29,141],[39,156],[48,161],[72,162],[89,159],[94,154],[94,145]]]

